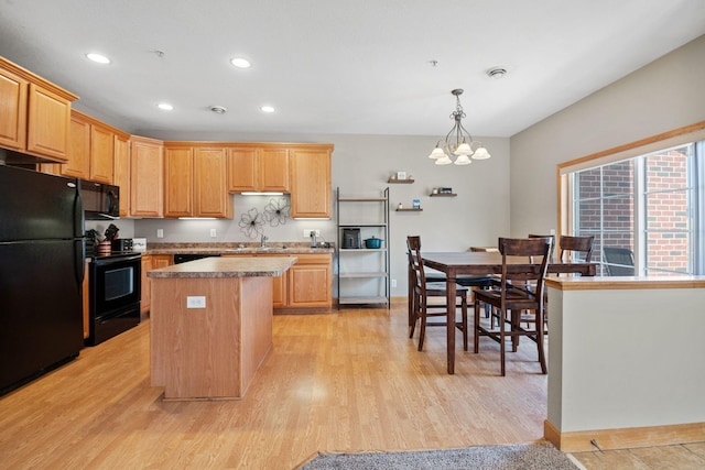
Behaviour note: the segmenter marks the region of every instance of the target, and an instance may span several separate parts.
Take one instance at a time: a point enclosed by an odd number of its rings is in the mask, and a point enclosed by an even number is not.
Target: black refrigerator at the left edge
[[[0,165],[0,395],[84,346],[76,181]]]

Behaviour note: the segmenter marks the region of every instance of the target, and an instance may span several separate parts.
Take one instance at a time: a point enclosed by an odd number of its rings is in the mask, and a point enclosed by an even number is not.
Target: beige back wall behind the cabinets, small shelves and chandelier
[[[492,157],[468,166],[437,166],[429,153],[437,135],[352,135],[352,134],[214,134],[188,135],[160,131],[144,131],[163,140],[226,140],[270,142],[330,142],[333,152],[333,193],[336,187],[348,196],[377,197],[390,188],[391,278],[397,280],[392,296],[406,295],[408,234],[420,234],[429,251],[465,251],[470,245],[495,244],[497,237],[509,233],[509,139],[478,138]],[[392,172],[404,171],[414,176],[411,185],[389,185]],[[433,187],[452,187],[457,197],[429,197]],[[332,198],[334,196],[332,195]],[[421,212],[395,212],[400,201],[411,207],[420,198]],[[262,209],[262,196],[235,196],[234,220],[165,220],[134,221],[134,237],[148,241],[249,241],[238,226],[240,215],[256,207]],[[335,210],[335,201],[333,203]],[[324,240],[336,241],[336,220],[288,220],[279,227],[265,227],[271,242],[306,241],[303,229],[319,229]],[[118,227],[120,223],[117,223]],[[164,239],[155,238],[156,229],[164,230]],[[209,238],[216,228],[218,238]],[[127,232],[127,230],[126,230]],[[120,232],[122,236],[122,231]]]

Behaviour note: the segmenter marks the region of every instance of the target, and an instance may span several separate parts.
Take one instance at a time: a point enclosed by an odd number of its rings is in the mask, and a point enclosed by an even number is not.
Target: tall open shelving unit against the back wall
[[[391,306],[390,259],[387,248],[387,243],[389,243],[389,188],[384,188],[381,197],[345,197],[340,196],[338,187],[336,203],[338,215],[338,253],[336,256],[338,308],[341,305],[362,304],[387,304],[387,308],[389,308]],[[346,218],[349,214],[360,214],[361,206],[366,207],[364,210],[366,215],[373,214],[373,206],[377,206],[377,220],[355,223],[356,220]],[[357,212],[354,211],[355,208],[358,209]],[[365,245],[365,238],[375,236],[382,239],[382,248],[343,248],[343,233],[346,228],[360,229],[361,247]]]

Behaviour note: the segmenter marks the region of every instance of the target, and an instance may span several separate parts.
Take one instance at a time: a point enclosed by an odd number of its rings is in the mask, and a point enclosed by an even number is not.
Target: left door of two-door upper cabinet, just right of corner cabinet
[[[193,167],[193,149],[164,149],[164,217],[194,215]]]

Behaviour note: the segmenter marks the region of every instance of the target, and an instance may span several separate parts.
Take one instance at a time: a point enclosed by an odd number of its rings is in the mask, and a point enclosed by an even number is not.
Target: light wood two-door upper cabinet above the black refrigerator
[[[77,96],[0,57],[0,146],[64,163]]]

